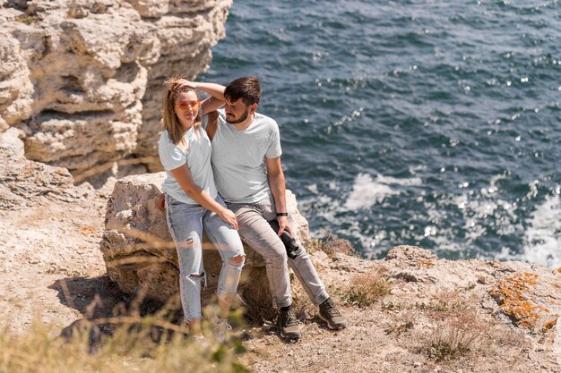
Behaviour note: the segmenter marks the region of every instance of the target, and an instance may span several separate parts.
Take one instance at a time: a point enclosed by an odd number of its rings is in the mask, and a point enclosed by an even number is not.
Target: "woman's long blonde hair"
[[[183,139],[183,128],[177,119],[176,99],[177,94],[180,92],[189,92],[192,90],[196,95],[196,91],[181,84],[180,81],[182,79],[183,77],[172,76],[164,82],[166,86],[166,97],[164,97],[164,104],[162,107],[161,124],[168,131],[169,140],[171,140],[171,142],[175,145],[186,146],[185,140]],[[199,99],[199,95],[197,95],[197,99]],[[203,115],[199,110],[197,116],[194,118],[194,131],[198,129],[202,122]]]

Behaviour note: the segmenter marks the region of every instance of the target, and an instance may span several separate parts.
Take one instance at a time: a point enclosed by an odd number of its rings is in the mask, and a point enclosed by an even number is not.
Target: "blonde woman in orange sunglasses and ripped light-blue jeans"
[[[220,251],[222,268],[217,296],[222,318],[228,314],[237,293],[244,266],[244,249],[237,234],[236,215],[226,208],[214,184],[211,169],[211,140],[203,130],[206,114],[223,105],[223,87],[209,83],[211,94],[199,101],[191,82],[170,78],[163,104],[162,131],[158,151],[166,170],[162,185],[169,233],[176,244],[180,270],[181,304],[186,322],[194,335],[200,335],[203,232]],[[228,323],[219,319],[224,331]]]

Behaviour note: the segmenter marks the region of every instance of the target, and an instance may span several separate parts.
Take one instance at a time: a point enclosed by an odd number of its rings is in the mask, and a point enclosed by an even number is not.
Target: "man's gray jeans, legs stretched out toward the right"
[[[304,246],[298,242],[296,258],[289,259],[284,244],[269,225],[269,221],[277,218],[272,198],[255,203],[227,203],[227,206],[237,216],[238,233],[242,241],[263,256],[275,307],[292,304],[288,265],[315,305],[329,298]],[[290,217],[289,224],[296,235],[296,227]]]

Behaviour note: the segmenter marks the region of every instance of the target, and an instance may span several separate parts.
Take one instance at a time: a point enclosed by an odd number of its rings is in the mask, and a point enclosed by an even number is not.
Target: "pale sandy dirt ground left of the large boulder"
[[[84,192],[0,211],[0,315],[10,330],[25,331],[33,318],[65,327],[108,286],[99,251],[105,198]]]

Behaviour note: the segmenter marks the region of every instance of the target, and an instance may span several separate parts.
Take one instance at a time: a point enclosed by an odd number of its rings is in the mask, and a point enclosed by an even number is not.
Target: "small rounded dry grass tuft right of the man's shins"
[[[349,288],[341,294],[341,300],[364,309],[391,292],[392,283],[384,276],[384,270],[376,270],[352,277]]]

